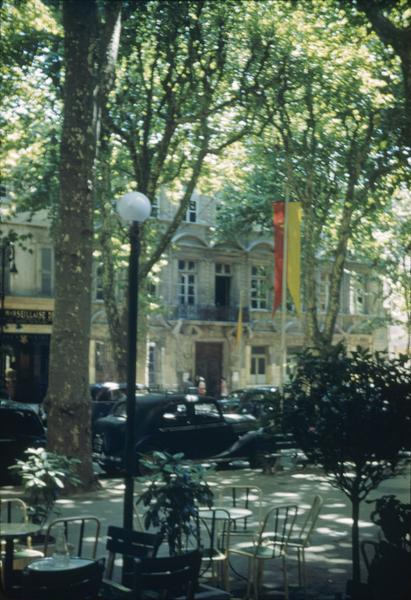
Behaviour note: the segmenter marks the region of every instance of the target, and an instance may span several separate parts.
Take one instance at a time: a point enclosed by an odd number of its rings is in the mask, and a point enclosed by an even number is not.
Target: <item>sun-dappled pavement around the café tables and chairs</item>
[[[383,494],[394,494],[402,502],[410,502],[411,471],[408,466],[402,476],[383,482],[374,490],[369,500]],[[320,494],[324,503],[312,536],[312,546],[306,551],[307,594],[306,600],[337,600],[345,597],[346,581],[351,577],[351,506],[348,498],[333,488],[319,468],[284,468],[274,474],[265,474],[249,468],[210,472],[208,480],[216,485],[256,485],[263,491],[263,510],[281,504],[297,504],[298,519],[311,506],[313,497]],[[102,536],[98,556],[105,555],[105,535],[108,525],[122,525],[124,483],[122,479],[101,479],[101,487],[92,493],[76,493],[60,498],[57,507],[59,516],[92,514],[101,520]],[[136,496],[142,483],[136,479]],[[5,486],[1,497],[19,496],[16,487]],[[377,540],[379,529],[370,521],[373,505],[361,505],[360,537],[362,540]],[[277,564],[278,563],[278,564]],[[289,585],[290,600],[304,598],[298,588],[297,559],[290,554]],[[235,557],[235,571],[245,577],[246,560]],[[263,600],[283,598],[280,561],[269,561],[264,571]],[[366,578],[363,568],[363,579]],[[231,589],[234,597],[242,597],[245,578],[232,577]]]

